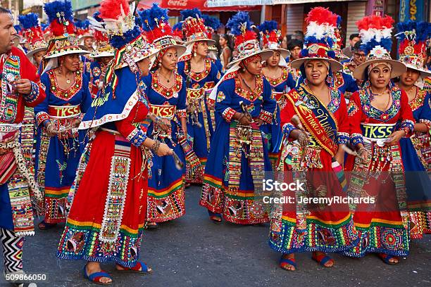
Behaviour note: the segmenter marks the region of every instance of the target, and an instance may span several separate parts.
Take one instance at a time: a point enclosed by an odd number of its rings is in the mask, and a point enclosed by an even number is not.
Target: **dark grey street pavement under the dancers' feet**
[[[297,270],[287,272],[278,267],[280,254],[268,245],[268,224],[213,224],[198,204],[199,195],[199,186],[186,189],[186,215],[145,232],[141,259],[152,274],[119,274],[112,263],[102,265],[112,274],[112,286],[431,286],[431,235],[413,241],[411,255],[396,266],[375,255],[333,255],[335,267],[326,269],[311,260],[311,253],[302,253],[296,255]],[[47,275],[36,286],[96,286],[82,276],[85,262],[57,260],[62,231],[58,226],[27,237],[25,271]],[[0,277],[0,286],[9,286]]]

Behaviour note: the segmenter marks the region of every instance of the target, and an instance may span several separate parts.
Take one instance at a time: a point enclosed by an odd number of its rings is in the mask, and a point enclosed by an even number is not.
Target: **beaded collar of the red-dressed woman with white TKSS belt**
[[[371,106],[368,89],[360,89],[358,93],[359,98],[361,99],[363,113],[375,120],[387,122],[391,120],[401,108],[401,89],[399,89],[399,87],[392,87],[390,91],[390,95],[392,96],[392,105],[386,111],[382,111]]]

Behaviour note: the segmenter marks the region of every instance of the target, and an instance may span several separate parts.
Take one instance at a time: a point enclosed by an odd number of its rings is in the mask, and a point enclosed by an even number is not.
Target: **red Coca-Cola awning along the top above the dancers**
[[[235,5],[225,5],[225,1],[220,1],[221,5],[217,7],[208,6],[207,1],[202,0],[142,0],[139,1],[137,8],[139,10],[150,8],[153,3],[158,3],[162,8],[168,8],[170,10],[185,10],[198,8],[202,12],[220,12],[220,11],[258,11],[261,9],[261,6],[256,6],[258,4],[252,4],[251,6],[244,6],[244,1],[237,1],[238,3]],[[267,0],[268,1],[268,0]]]

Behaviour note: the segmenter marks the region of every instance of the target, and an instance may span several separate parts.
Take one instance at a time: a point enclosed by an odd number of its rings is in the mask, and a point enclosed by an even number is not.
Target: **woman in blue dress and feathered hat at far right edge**
[[[410,211],[410,236],[422,238],[431,232],[431,181],[427,174],[427,159],[422,153],[430,146],[431,107],[430,93],[421,88],[423,79],[431,71],[423,68],[426,58],[425,41],[430,36],[431,24],[426,22],[398,23],[399,60],[407,71],[399,76],[398,86],[408,96],[408,104],[415,118],[411,137],[401,139],[401,156],[406,171],[406,193]]]

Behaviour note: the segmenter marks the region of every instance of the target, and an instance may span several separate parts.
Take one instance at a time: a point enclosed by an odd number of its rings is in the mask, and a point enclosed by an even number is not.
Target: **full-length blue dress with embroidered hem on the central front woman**
[[[225,76],[215,102],[217,127],[205,167],[199,204],[220,213],[228,222],[257,224],[268,222],[268,209],[261,196],[263,172],[271,171],[262,128],[240,125],[232,117],[242,113],[242,101],[251,117],[270,123],[275,101],[266,79],[256,76],[254,92],[242,89],[238,71]]]

